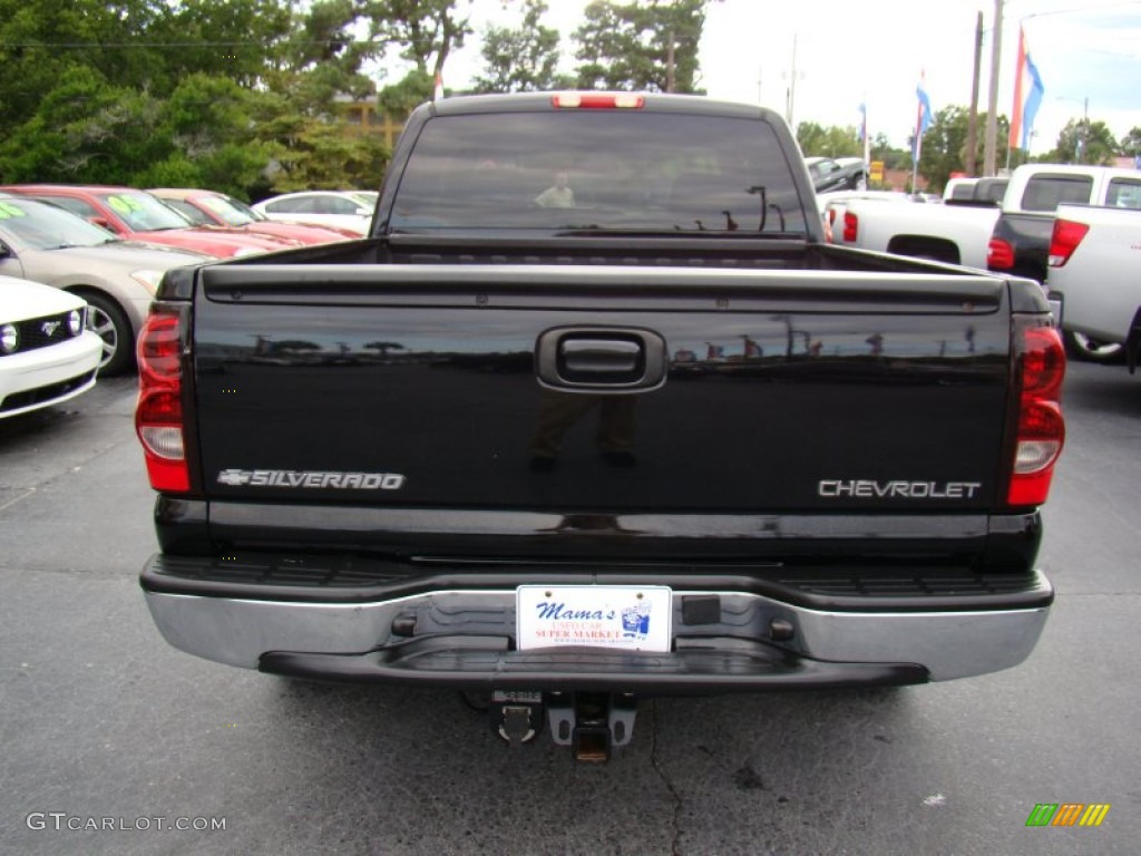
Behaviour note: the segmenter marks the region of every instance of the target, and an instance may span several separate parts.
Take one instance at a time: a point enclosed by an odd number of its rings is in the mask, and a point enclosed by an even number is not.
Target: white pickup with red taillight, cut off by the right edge
[[[1046,286],[1062,329],[1087,353],[1136,369],[1141,346],[1141,210],[1061,204],[1050,242]]]

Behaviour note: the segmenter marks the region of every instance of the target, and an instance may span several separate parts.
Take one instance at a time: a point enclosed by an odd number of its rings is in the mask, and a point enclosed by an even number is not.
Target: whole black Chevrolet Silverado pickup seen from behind
[[[756,106],[422,106],[370,237],[167,275],[137,409],[155,623],[476,694],[583,759],[649,694],[1015,665],[1053,597],[1042,290],[820,233]]]

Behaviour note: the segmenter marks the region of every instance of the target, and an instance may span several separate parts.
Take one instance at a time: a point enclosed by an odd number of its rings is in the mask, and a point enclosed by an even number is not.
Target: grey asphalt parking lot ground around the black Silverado
[[[601,766],[509,749],[454,693],[181,654],[130,379],[0,420],[0,851],[1135,854],[1141,378],[1073,364],[1021,667],[898,691],[644,701]],[[1039,803],[1108,805],[1038,827]]]

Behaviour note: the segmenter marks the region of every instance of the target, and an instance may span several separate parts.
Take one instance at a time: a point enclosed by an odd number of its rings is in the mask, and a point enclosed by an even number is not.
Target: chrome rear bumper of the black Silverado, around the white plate
[[[1041,574],[1035,579],[1034,606],[930,612],[839,612],[752,592],[675,590],[666,654],[515,651],[515,591],[505,588],[355,603],[151,589],[146,601],[175,647],[264,671],[461,688],[712,692],[906,684],[1008,669],[1030,654],[1046,621],[1052,591]]]

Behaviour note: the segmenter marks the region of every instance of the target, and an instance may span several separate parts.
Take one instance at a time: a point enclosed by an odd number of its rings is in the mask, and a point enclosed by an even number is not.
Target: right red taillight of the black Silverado
[[[1018,437],[1006,501],[1041,506],[1050,493],[1054,463],[1066,442],[1060,406],[1066,349],[1052,326],[1021,329],[1018,362]]]

